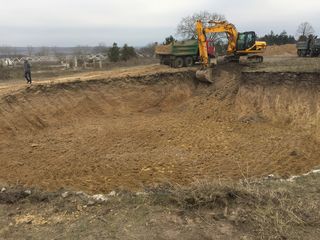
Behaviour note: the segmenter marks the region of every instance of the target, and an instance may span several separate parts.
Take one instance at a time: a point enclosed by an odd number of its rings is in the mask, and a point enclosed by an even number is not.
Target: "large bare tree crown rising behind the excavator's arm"
[[[177,35],[183,38],[197,38],[197,33],[195,29],[197,20],[201,20],[204,23],[204,25],[207,25],[207,22],[209,22],[210,20],[223,21],[225,20],[225,17],[221,14],[209,13],[207,11],[194,13],[191,16],[182,18],[177,27]]]

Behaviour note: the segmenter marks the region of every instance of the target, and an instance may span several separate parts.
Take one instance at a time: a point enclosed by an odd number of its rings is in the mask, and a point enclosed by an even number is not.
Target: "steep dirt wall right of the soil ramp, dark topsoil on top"
[[[320,139],[320,73],[243,72],[236,98],[240,119],[271,120]]]

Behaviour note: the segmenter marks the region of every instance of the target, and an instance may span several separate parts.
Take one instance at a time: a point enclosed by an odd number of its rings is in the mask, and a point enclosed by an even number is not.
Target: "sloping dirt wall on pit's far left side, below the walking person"
[[[168,111],[192,95],[192,76],[162,73],[28,87],[0,98],[0,134],[39,131],[87,117]]]

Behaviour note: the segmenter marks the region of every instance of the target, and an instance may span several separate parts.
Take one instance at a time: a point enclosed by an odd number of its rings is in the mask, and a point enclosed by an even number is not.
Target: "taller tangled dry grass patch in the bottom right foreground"
[[[311,176],[310,180],[319,185],[320,177]],[[249,239],[309,239],[304,238],[305,232],[320,226],[320,188],[311,190],[303,183],[198,181],[191,187],[171,185],[165,189],[154,192],[156,199],[166,199],[164,204],[171,202],[184,211],[201,215],[207,223],[210,218],[206,214],[213,211],[211,224],[230,222]]]

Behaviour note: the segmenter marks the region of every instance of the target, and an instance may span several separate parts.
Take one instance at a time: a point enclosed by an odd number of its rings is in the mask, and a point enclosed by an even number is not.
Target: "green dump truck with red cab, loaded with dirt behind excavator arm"
[[[207,40],[210,56],[215,55],[213,40]],[[174,68],[192,67],[200,61],[198,40],[176,41],[167,45],[158,45],[155,50],[160,64]]]

